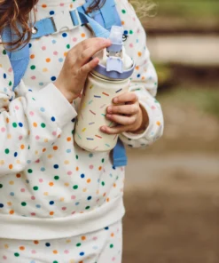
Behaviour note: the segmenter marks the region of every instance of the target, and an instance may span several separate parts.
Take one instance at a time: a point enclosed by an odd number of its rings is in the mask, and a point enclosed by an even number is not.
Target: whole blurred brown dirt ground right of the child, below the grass
[[[165,132],[129,150],[122,263],[219,262],[219,123],[161,98]]]

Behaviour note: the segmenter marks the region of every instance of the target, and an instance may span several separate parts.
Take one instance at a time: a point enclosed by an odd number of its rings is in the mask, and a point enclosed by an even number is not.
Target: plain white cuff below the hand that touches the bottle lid
[[[65,126],[70,122],[77,112],[72,104],[66,100],[66,97],[59,92],[59,89],[54,84],[48,84],[40,92],[38,92],[39,100],[47,108],[50,108],[52,116],[55,116],[59,127]]]

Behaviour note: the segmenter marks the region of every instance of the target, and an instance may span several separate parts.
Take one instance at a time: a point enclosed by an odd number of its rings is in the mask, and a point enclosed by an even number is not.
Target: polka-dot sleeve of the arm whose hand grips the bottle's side
[[[136,68],[131,76],[129,91],[137,94],[142,108],[149,117],[149,124],[140,134],[123,132],[121,140],[129,147],[145,147],[159,139],[163,133],[163,115],[160,103],[155,100],[158,87],[156,70],[146,46],[145,29],[127,0],[117,0],[117,10],[121,16],[127,39],[126,52],[135,61]]]

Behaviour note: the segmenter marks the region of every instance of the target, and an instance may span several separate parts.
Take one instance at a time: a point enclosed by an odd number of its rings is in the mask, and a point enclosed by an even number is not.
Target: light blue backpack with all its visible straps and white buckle
[[[52,15],[50,18],[36,21],[34,27],[32,28],[31,39],[56,33],[58,34],[65,29],[72,30],[88,23],[95,36],[107,38],[110,34],[109,31],[112,26],[121,26],[121,19],[116,10],[114,0],[106,0],[106,3],[102,7],[98,7],[98,10],[86,13],[92,2],[93,0],[86,0],[85,4],[74,9],[73,11],[60,12],[59,14]],[[18,27],[21,30],[19,25]],[[3,42],[13,42],[16,40],[16,37],[17,36],[15,34],[12,34],[10,26],[4,28],[2,33]],[[29,46],[28,44],[22,45],[20,49],[13,52],[7,51],[7,53],[14,73],[14,91],[20,84],[20,80],[25,75],[27,70],[30,60]],[[127,165],[126,151],[121,140],[119,139],[117,145],[113,148],[113,166],[119,167],[125,165]]]

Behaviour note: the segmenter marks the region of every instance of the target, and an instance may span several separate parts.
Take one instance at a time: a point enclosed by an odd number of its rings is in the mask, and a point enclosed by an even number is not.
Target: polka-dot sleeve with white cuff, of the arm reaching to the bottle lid
[[[53,84],[20,98],[12,85],[11,63],[0,45],[0,176],[35,162],[77,115]]]

